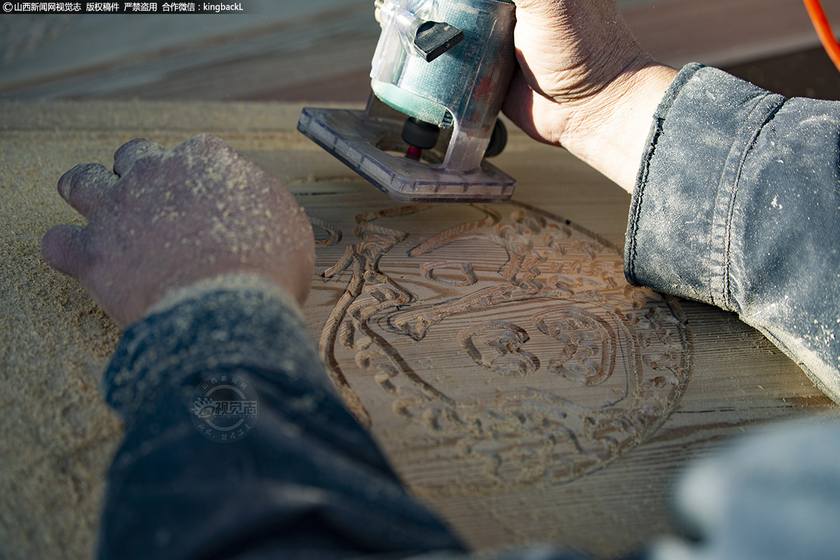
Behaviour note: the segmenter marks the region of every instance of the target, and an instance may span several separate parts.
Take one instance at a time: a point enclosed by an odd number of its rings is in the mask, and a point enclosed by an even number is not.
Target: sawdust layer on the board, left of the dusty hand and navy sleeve
[[[121,432],[97,387],[119,336],[41,236],[82,223],[55,191],[96,144],[0,139],[0,556],[89,557],[102,479]]]

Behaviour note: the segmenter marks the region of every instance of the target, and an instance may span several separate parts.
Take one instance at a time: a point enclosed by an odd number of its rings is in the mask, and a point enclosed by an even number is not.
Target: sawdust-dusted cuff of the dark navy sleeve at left
[[[175,290],[126,329],[101,390],[128,429],[136,417],[150,416],[146,409],[161,409],[164,395],[187,410],[209,371],[276,364],[323,370],[297,301],[260,276],[223,275]],[[326,374],[315,382],[333,392]],[[169,413],[151,416],[163,426],[175,421],[164,417]]]

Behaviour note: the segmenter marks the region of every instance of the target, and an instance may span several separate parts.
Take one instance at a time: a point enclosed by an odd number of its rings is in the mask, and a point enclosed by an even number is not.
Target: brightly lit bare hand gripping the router
[[[516,0],[519,69],[504,111],[632,191],[651,118],[676,71],[636,42],[615,0]]]

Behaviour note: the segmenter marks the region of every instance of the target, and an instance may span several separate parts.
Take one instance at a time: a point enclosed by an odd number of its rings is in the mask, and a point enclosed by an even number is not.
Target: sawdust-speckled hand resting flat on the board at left
[[[132,140],[114,154],[113,172],[78,165],[58,190],[88,223],[50,229],[41,254],[123,327],[167,291],[223,274],[262,275],[306,300],[306,214],[281,181],[219,139],[170,150]]]

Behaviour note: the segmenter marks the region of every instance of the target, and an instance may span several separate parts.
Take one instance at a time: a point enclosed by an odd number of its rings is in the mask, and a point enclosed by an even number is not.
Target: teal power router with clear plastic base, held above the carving
[[[297,129],[397,201],[507,201],[485,158],[515,67],[507,0],[376,0],[382,32],[364,111],[305,107]]]

